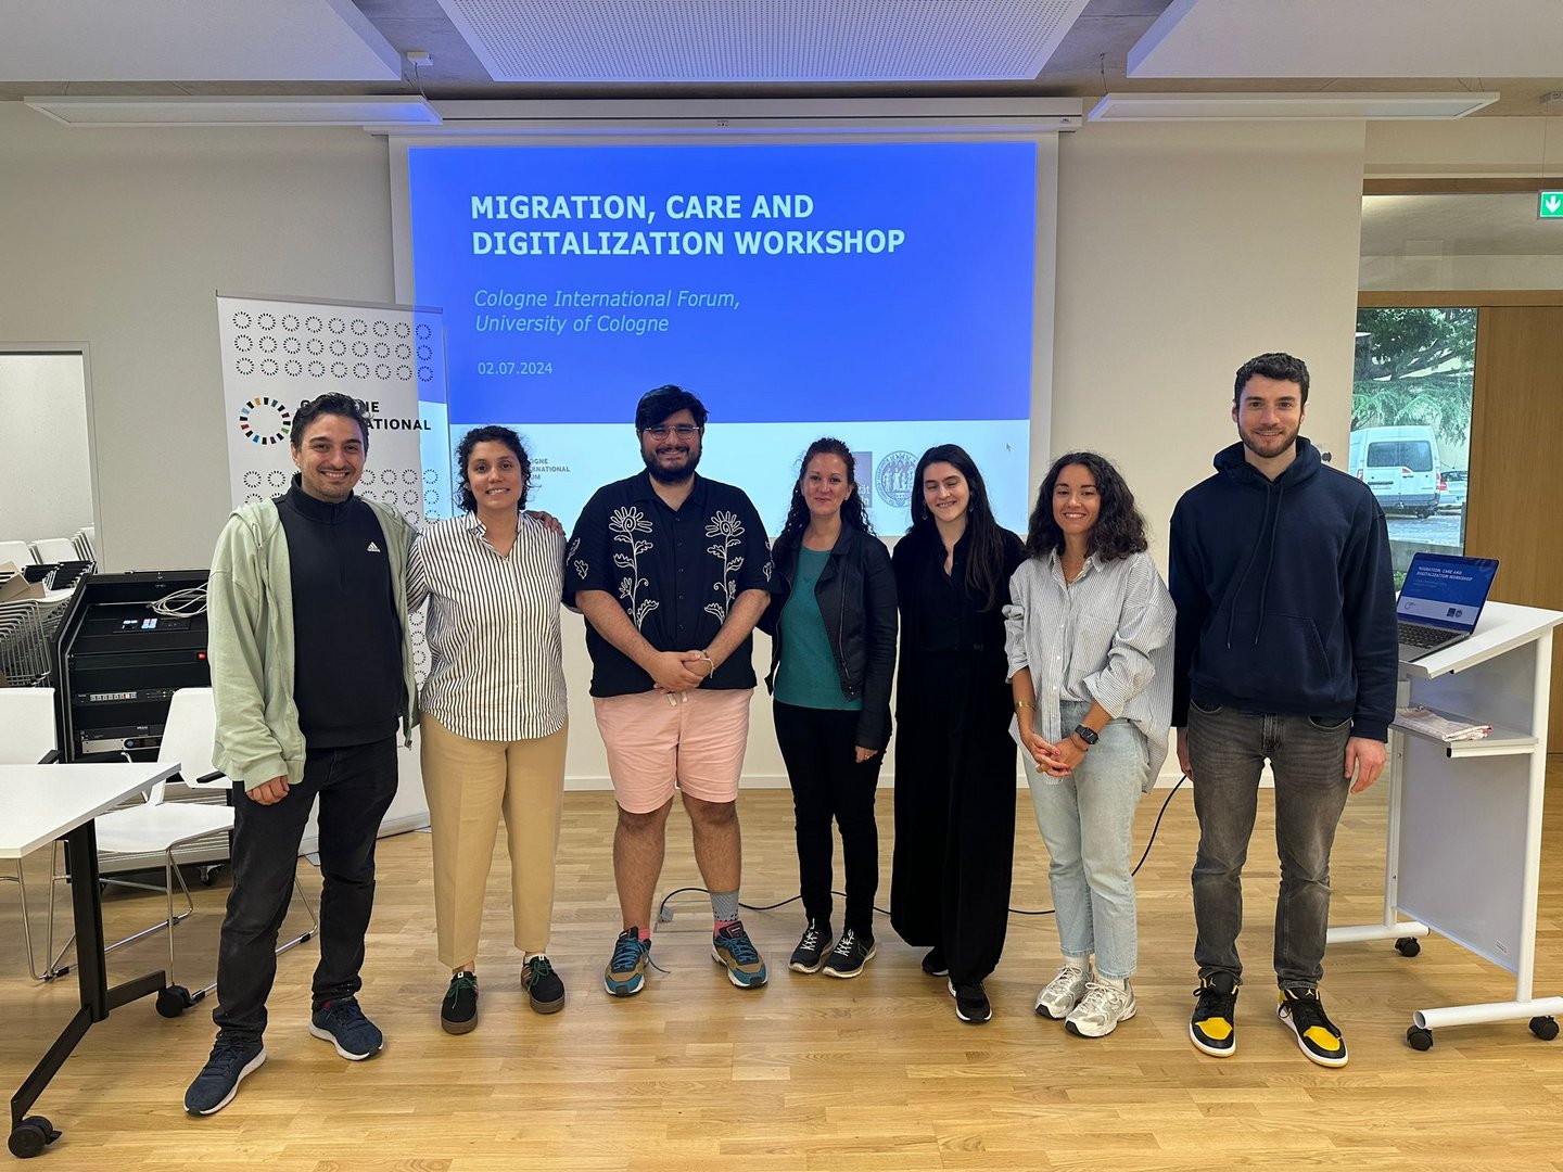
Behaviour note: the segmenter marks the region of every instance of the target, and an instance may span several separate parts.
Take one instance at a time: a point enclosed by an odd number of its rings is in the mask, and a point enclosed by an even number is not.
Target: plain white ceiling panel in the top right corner
[[[1563,5],[1174,0],[1130,50],[1128,77],[1563,77]]]

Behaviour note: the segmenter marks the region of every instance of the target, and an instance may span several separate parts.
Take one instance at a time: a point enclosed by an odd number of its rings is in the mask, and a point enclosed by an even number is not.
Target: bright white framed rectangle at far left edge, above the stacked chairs
[[[0,353],[0,539],[69,538],[91,523],[81,355]]]

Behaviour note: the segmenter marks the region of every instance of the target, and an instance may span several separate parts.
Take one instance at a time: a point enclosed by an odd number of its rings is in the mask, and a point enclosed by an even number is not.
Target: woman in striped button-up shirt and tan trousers
[[[477,1027],[477,949],[499,817],[510,847],[511,911],[531,1008],[564,1008],[549,961],[567,708],[560,642],[564,534],[528,514],[531,461],[506,427],[456,448],[464,516],[424,530],[408,564],[408,606],[428,600],[422,713],[424,791],[435,849],[435,920],[450,988],[447,1033]]]

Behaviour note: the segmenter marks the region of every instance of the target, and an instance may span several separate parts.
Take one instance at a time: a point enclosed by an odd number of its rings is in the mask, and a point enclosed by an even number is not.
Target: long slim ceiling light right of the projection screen
[[[1497,94],[1108,94],[1093,122],[1249,122],[1268,119],[1458,119]]]

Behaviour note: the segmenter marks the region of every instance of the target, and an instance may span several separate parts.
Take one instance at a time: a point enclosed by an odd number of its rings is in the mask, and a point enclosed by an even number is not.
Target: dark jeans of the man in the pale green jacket
[[[320,799],[320,964],[314,1005],[363,986],[364,933],[375,903],[375,836],[395,797],[395,738],[347,749],[311,749],[303,780],[263,806],[234,795],[233,891],[217,950],[217,1008],[230,1038],[259,1038],[277,978],[277,933],[292,899],[299,842]]]

